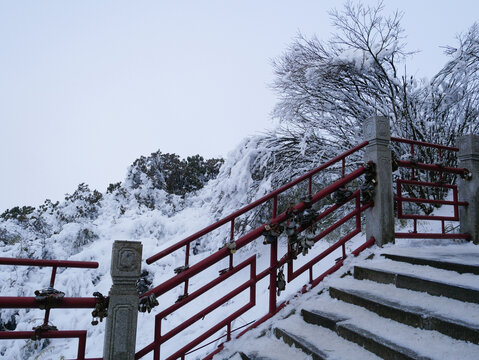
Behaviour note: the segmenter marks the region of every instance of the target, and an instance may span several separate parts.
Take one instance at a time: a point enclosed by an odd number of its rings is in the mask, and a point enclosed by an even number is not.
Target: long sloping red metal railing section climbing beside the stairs
[[[341,267],[344,259],[346,258],[346,248],[345,248],[346,242],[361,231],[361,213],[373,205],[372,203],[361,204],[359,190],[352,192],[352,194],[349,197],[347,197],[347,199],[344,199],[344,201],[342,201],[341,203],[328,205],[327,209],[322,210],[321,213],[316,215],[316,217],[313,220],[313,223],[317,223],[318,221],[321,221],[328,215],[331,215],[334,211],[342,208],[345,204],[350,204],[351,202],[354,201],[353,211],[351,211],[346,216],[342,217],[340,220],[337,220],[336,222],[334,222],[332,225],[330,225],[328,228],[323,230],[318,235],[315,235],[313,241],[314,243],[316,243],[317,241],[319,241],[320,239],[323,239],[326,235],[332,233],[333,231],[338,229],[341,225],[344,225],[346,222],[350,220],[355,222],[355,227],[352,230],[350,230],[346,235],[344,235],[339,241],[334,243],[332,246],[330,246],[328,249],[323,251],[321,254],[309,260],[307,263],[303,264],[297,270],[293,270],[293,262],[295,260],[295,256],[291,253],[291,249],[289,245],[288,245],[287,252],[280,258],[280,260],[278,260],[278,243],[276,241],[273,241],[269,244],[270,245],[270,262],[269,262],[269,266],[263,271],[260,271],[259,273],[256,272],[256,268],[257,268],[256,254],[251,257],[248,257],[246,260],[242,261],[240,264],[234,265],[234,255],[233,255],[234,251],[232,250],[235,250],[235,251],[240,250],[244,248],[246,245],[252,243],[254,240],[259,238],[260,236],[262,236],[265,231],[265,226],[267,225],[267,224],[263,224],[257,227],[256,229],[246,233],[245,235],[239,237],[238,239],[235,239],[235,234],[234,234],[235,219],[245,214],[247,211],[250,211],[266,203],[267,201],[272,201],[272,214],[271,214],[271,220],[269,221],[269,224],[274,225],[274,224],[280,224],[280,223],[289,221],[288,219],[290,218],[292,211],[293,212],[304,211],[307,208],[307,206],[312,206],[313,204],[318,203],[320,200],[323,200],[329,197],[333,192],[338,191],[338,189],[346,187],[347,184],[351,183],[353,180],[359,178],[362,174],[364,174],[366,171],[364,166],[358,166],[355,170],[351,171],[349,174],[346,174],[345,159],[349,155],[352,155],[356,153],[357,151],[359,151],[360,149],[362,149],[367,144],[368,142],[364,142],[356,146],[350,151],[335,157],[331,161],[328,161],[326,164],[282,186],[278,190],[271,192],[270,194],[251,203],[250,205],[245,206],[244,208],[225,217],[224,219],[219,220],[218,222],[204,228],[201,231],[198,231],[197,233],[168,247],[167,249],[160,251],[156,255],[149,257],[146,260],[146,262],[148,264],[151,264],[178,250],[184,249],[185,266],[183,267],[182,271],[179,272],[177,275],[166,280],[161,285],[156,286],[155,288],[149,290],[148,292],[143,294],[141,298],[148,298],[150,295],[153,295],[153,294],[156,297],[159,297],[181,285],[183,285],[184,289],[183,289],[183,295],[180,296],[175,303],[171,305],[165,305],[165,308],[156,315],[153,341],[150,344],[148,344],[146,347],[138,351],[135,356],[135,359],[142,358],[146,354],[153,352],[153,358],[155,360],[159,360],[160,349],[162,344],[172,339],[174,336],[180,334],[183,330],[187,329],[189,326],[193,325],[194,323],[202,319],[204,316],[218,309],[220,306],[224,305],[226,302],[230,301],[235,296],[249,289],[249,301],[246,304],[244,304],[242,307],[237,309],[232,314],[225,316],[221,321],[219,321],[217,324],[212,326],[210,329],[206,330],[204,333],[202,333],[201,335],[199,335],[197,338],[193,339],[189,343],[184,344],[184,340],[183,340],[181,342],[183,346],[177,349],[176,351],[174,351],[172,354],[169,354],[166,357],[166,359],[168,360],[177,359],[177,358],[184,359],[185,355],[187,353],[190,353],[193,348],[200,345],[203,341],[205,341],[210,336],[214,335],[215,333],[217,333],[219,330],[223,328],[226,328],[225,337],[226,337],[226,340],[229,340],[231,338],[231,333],[234,331],[231,329],[232,322],[256,305],[256,284],[260,280],[265,279],[267,277],[269,277],[269,311],[264,317],[257,320],[249,328],[255,327],[259,325],[260,323],[264,322],[265,320],[269,319],[274,314],[276,314],[277,311],[279,311],[279,309],[281,309],[284,306],[284,303],[277,304],[277,292],[276,292],[278,270],[283,265],[287,264],[288,266],[287,282],[290,282],[293,279],[297,278],[300,274],[308,272],[310,287],[317,285],[322,279],[324,279],[326,275],[334,272],[339,267]],[[312,193],[313,176],[338,162],[341,162],[341,178],[334,181],[331,185],[313,194]],[[278,212],[278,195],[284,193],[286,190],[304,181],[308,181],[307,189],[308,189],[308,195],[310,196],[310,204],[306,205],[305,202],[300,202],[297,205],[295,205],[293,208],[289,208],[289,210],[281,214],[278,214],[277,213]],[[212,255],[208,256],[207,258],[199,261],[198,263],[194,265],[191,265],[190,264],[191,243],[193,241],[198,241],[198,239],[201,238],[202,236],[209,234],[212,231],[221,227],[222,225],[225,225],[228,223],[230,223],[230,241],[231,241],[230,245],[231,244],[234,244],[234,245],[225,246],[219,249],[218,251],[216,251],[215,253],[213,253]],[[297,229],[298,233],[301,231],[304,231],[306,227],[307,226],[299,227]],[[363,244],[358,249],[353,251],[352,252],[353,255],[359,254],[359,252],[371,246],[372,244],[374,244],[374,239],[369,239],[365,244]],[[329,268],[328,270],[326,270],[319,276],[315,277],[313,273],[313,266],[317,264],[320,260],[324,259],[327,255],[331,254],[333,251],[339,248],[342,248],[342,256],[340,257],[340,259],[337,259],[336,264],[334,264],[331,268]],[[206,271],[207,269],[210,269],[213,265],[218,264],[218,262],[226,258],[229,258],[229,267],[227,269],[224,269],[223,271],[221,271],[218,277],[206,283],[199,289],[196,289],[193,292],[189,292],[189,281],[192,277],[202,273],[203,271]],[[233,275],[237,274],[239,271],[245,268],[249,268],[250,270],[248,279],[246,279],[244,282],[242,282],[240,285],[235,287],[232,291],[230,291],[223,297],[219,298],[218,300],[212,303],[209,303],[203,309],[199,310],[194,316],[191,316],[190,318],[184,320],[181,324],[177,325],[176,327],[169,329],[166,333],[162,333],[162,320],[164,318],[166,318],[173,312],[179,310],[180,308],[184,307],[191,301],[197,299],[201,295],[204,295],[207,291],[212,290],[213,288],[217,288],[221,284],[224,284]],[[307,291],[307,289],[308,289],[308,286],[305,285],[302,291],[303,292]],[[160,300],[160,304],[163,304],[161,300]],[[247,331],[248,329],[246,329],[245,331]]]

